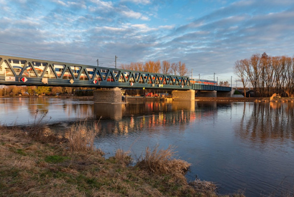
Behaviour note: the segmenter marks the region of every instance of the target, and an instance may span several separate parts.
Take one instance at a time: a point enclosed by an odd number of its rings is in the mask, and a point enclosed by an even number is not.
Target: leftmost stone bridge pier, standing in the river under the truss
[[[121,88],[94,90],[94,103],[122,103]]]

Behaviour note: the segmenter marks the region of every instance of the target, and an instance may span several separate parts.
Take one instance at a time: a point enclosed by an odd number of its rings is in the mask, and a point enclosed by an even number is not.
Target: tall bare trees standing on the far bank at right
[[[243,84],[244,92],[249,85],[259,97],[269,97],[273,93],[294,96],[294,57],[255,54],[237,60],[234,71]]]

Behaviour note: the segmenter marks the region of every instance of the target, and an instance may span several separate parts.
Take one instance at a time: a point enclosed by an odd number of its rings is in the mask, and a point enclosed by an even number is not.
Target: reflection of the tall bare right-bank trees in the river
[[[254,103],[251,115],[246,118],[245,105],[240,128],[236,132],[242,138],[253,141],[293,138],[294,105],[293,103]]]

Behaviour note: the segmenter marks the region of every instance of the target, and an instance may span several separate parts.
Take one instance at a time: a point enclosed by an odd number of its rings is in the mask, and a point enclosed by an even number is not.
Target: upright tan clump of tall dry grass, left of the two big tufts
[[[94,140],[97,135],[95,127],[86,123],[76,123],[69,130],[68,144],[72,151],[96,151]]]

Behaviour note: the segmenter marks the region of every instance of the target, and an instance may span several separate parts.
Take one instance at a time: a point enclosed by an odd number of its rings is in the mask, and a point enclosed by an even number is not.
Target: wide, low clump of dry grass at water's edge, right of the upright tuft
[[[191,164],[184,160],[175,159],[175,153],[172,146],[169,146],[166,150],[158,150],[158,145],[156,145],[152,151],[147,147],[145,155],[139,158],[136,166],[159,175],[172,174],[177,179],[186,182],[184,175]]]

